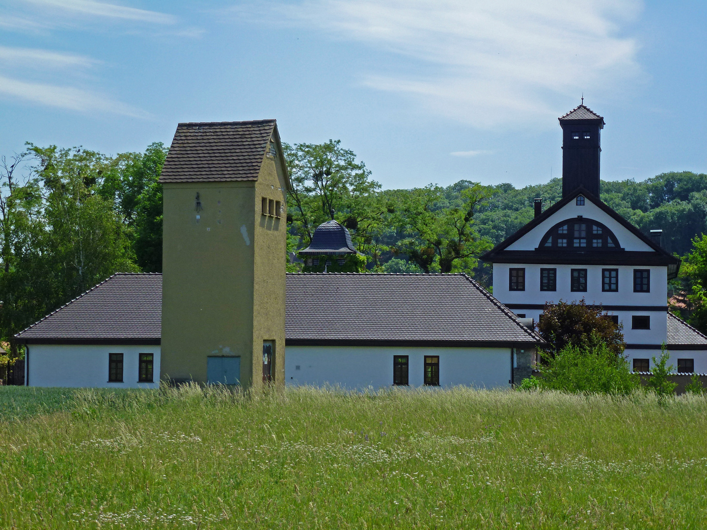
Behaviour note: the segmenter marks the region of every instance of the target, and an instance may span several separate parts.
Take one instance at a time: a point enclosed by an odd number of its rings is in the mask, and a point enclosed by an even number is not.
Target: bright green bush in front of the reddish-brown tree
[[[541,355],[539,377],[525,379],[528,382],[523,381],[521,388],[625,395],[641,386],[641,379],[631,373],[626,358],[604,345],[593,349],[565,346],[555,355]]]

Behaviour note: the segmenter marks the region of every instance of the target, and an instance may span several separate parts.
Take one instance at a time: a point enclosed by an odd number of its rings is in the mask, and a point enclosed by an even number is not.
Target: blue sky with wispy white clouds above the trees
[[[583,96],[603,179],[707,172],[705,20],[690,0],[0,0],[0,155],[276,118],[384,189],[522,187],[561,176]]]

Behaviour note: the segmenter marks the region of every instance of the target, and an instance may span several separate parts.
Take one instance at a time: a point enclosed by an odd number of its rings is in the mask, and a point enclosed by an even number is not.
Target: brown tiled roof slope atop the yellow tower
[[[257,180],[274,119],[180,123],[160,182]]]

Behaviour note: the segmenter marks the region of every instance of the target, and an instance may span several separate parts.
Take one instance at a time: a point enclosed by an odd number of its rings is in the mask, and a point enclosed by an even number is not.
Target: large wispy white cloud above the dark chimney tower
[[[621,35],[640,0],[304,0],[288,23],[404,56],[361,82],[479,127],[548,126],[635,82],[638,45]],[[407,71],[402,65],[412,64]],[[383,70],[385,68],[385,71]]]

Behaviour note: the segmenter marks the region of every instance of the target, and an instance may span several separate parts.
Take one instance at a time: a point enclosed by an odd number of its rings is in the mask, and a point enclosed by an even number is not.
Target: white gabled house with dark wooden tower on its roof
[[[497,245],[493,295],[518,317],[539,321],[547,303],[584,299],[601,305],[624,328],[636,372],[667,344],[679,372],[707,372],[707,338],[670,313],[667,281],[680,260],[654,237],[599,199],[600,131],[604,119],[580,105],[559,119],[563,129],[563,198]]]

